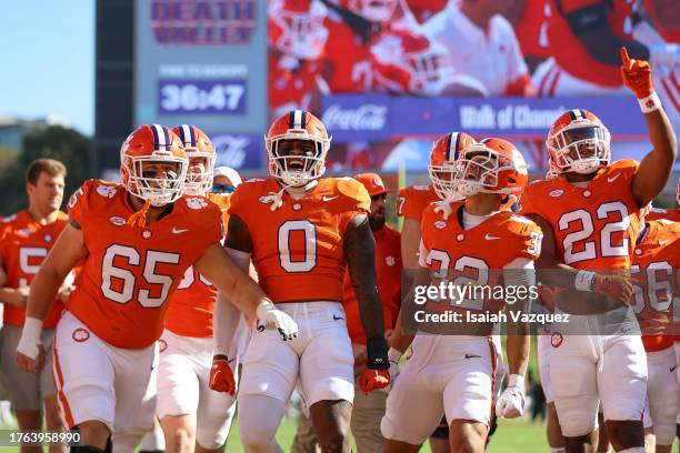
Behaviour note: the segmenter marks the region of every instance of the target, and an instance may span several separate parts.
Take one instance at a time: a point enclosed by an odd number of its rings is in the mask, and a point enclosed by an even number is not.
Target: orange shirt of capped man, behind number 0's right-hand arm
[[[382,321],[386,330],[394,329],[401,306],[401,234],[386,224],[382,229],[373,231],[373,238],[376,238],[376,276],[382,302]],[[359,302],[349,272],[344,275],[342,306],[352,343],[366,344]]]

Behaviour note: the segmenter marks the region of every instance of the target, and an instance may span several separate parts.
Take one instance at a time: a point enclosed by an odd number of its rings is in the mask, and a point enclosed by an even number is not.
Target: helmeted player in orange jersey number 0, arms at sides
[[[363,392],[389,385],[382,308],[376,286],[376,242],[369,195],[351,178],[323,178],[330,138],[309,112],[276,120],[266,139],[267,180],[247,181],[231,195],[227,248],[300,325],[278,344],[261,323],[243,359],[239,431],[247,452],[280,451],[274,434],[296,383],[322,451],[349,452],[354,395],[353,355],[340,301],[346,268],[367,338]]]

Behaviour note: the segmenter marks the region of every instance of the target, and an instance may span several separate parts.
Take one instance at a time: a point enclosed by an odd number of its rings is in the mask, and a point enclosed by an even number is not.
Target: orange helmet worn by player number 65
[[[188,167],[179,137],[161,124],[140,125],[120,147],[120,174],[126,190],[152,207],[182,197]]]

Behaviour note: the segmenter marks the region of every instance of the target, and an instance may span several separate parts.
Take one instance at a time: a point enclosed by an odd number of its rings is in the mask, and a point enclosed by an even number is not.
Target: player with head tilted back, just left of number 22
[[[420,265],[433,273],[432,283],[444,279],[456,285],[526,286],[528,294],[533,285],[531,271],[540,251],[541,231],[530,220],[503,210],[528,182],[522,155],[506,140],[484,139],[468,145],[457,162],[443,167],[449,165],[456,168],[456,175],[444,189],[444,201],[439,203],[448,209],[430,205],[422,215]],[[459,195],[466,197],[464,201],[449,201]],[[502,248],[494,246],[500,243]],[[416,290],[429,292],[429,281],[430,275],[424,282],[418,279]],[[412,294],[418,296],[418,291]],[[442,306],[442,301],[450,304]],[[414,302],[427,305],[424,310],[413,309]],[[516,302],[526,308],[524,298]],[[471,325],[464,320],[471,314],[498,314],[504,299],[474,294],[403,303],[410,306],[402,305],[403,323],[397,325],[390,361],[398,361],[411,342],[413,345],[388,396],[381,424],[383,451],[417,452],[444,414],[452,452],[483,452],[498,350],[491,339],[493,321]],[[452,313],[462,321],[453,321],[448,330],[424,318]],[[404,325],[419,322],[416,335],[403,331]],[[516,333],[508,336],[511,374],[508,387],[496,402],[498,416],[516,417],[523,411],[529,336],[526,332]],[[404,412],[407,406],[409,411]]]

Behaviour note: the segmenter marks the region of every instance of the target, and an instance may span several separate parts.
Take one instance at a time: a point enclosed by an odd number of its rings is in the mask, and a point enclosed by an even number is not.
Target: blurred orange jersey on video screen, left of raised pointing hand
[[[608,26],[613,34],[632,39],[633,3],[629,0],[550,0],[551,13],[548,18],[548,41],[550,56],[571,76],[608,88],[621,87],[619,66],[604,64],[593,59],[578,36],[569,26],[567,17],[579,14],[582,27],[592,27],[592,8],[601,6],[606,10]]]

